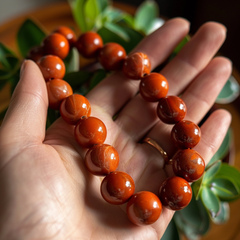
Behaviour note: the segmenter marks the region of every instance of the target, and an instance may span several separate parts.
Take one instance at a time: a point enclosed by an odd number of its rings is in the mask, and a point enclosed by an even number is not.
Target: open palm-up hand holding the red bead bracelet
[[[146,53],[154,68],[188,31],[186,20],[172,19],[134,51]],[[161,71],[169,82],[168,95],[182,93],[187,120],[198,123],[202,119],[231,73],[228,59],[213,58],[225,36],[221,24],[204,24]],[[87,98],[91,115],[106,124],[105,143],[119,153],[118,170],[132,176],[136,192],[157,193],[173,172],[170,166],[163,169],[163,159],[152,146],[140,142],[151,137],[172,156],[172,126],[157,118],[157,103],[135,96],[138,84],[114,73]],[[0,239],[159,240],[174,212],[163,208],[157,222],[138,227],[127,219],[125,205],[106,203],[100,195],[101,178],[84,166],[86,149],[76,143],[73,126],[60,118],[45,132],[47,107],[46,83],[38,67],[25,61],[0,128]],[[202,139],[195,149],[206,163],[220,146],[230,122],[230,114],[218,110],[201,127]]]

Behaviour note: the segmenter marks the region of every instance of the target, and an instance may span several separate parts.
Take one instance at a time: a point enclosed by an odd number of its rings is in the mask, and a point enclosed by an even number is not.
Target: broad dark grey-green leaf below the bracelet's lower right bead
[[[201,200],[192,198],[184,209],[174,215],[177,227],[189,238],[204,235],[210,228],[210,219]]]

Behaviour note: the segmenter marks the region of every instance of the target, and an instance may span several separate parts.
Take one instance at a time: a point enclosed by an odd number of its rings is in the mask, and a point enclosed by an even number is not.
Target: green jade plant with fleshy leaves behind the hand
[[[126,52],[130,52],[146,35],[164,24],[164,20],[159,17],[158,5],[154,1],[143,2],[134,16],[114,8],[108,0],[68,2],[73,18],[82,33],[96,31],[104,43],[117,42]],[[47,33],[34,20],[26,19],[20,26],[16,38],[21,57],[0,42],[0,90],[9,84],[11,93],[13,92],[19,80],[22,60],[27,58],[31,48],[40,45],[46,35]],[[171,61],[190,38],[187,35],[167,61]],[[85,95],[109,72],[98,66],[92,68],[92,71],[82,68],[79,59],[78,51],[73,47],[64,60],[66,65],[64,80],[70,83],[74,92]],[[231,76],[216,102],[229,103],[238,95],[239,85]],[[6,110],[0,113],[0,120],[3,119]],[[49,109],[47,127],[59,116],[58,111]],[[197,239],[207,233],[211,221],[221,224],[229,219],[228,203],[240,198],[240,172],[222,161],[230,151],[232,135],[230,128],[219,150],[206,166],[204,175],[192,184],[194,193],[192,201],[185,209],[175,213],[162,237],[163,240],[177,240],[182,234],[188,239]]]

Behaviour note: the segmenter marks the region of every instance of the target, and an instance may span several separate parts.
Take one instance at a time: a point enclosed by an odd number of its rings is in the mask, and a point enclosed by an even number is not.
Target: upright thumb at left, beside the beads
[[[38,66],[27,60],[22,65],[19,83],[1,126],[1,145],[8,145],[13,141],[22,145],[43,141],[47,108],[45,80]]]

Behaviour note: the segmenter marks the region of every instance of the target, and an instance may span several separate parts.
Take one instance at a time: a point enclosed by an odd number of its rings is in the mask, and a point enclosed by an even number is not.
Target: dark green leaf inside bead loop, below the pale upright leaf
[[[70,72],[64,76],[64,80],[67,81],[72,89],[77,89],[86,83],[92,76],[92,73],[85,71]]]

